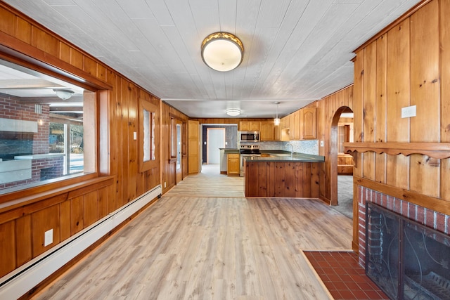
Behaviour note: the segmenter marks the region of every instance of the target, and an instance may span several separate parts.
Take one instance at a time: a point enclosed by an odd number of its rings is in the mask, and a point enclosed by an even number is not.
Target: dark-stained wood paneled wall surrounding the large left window
[[[159,163],[139,173],[138,141],[134,140],[134,132],[139,132],[139,99],[157,105],[158,110],[160,99],[3,2],[0,58],[97,91],[98,110],[97,173],[1,196],[1,277],[154,188],[161,183],[162,172]],[[155,131],[159,135],[162,124],[165,137],[163,121],[158,111]],[[159,138],[156,143],[160,148]],[[54,242],[44,247],[44,232],[51,228]]]

